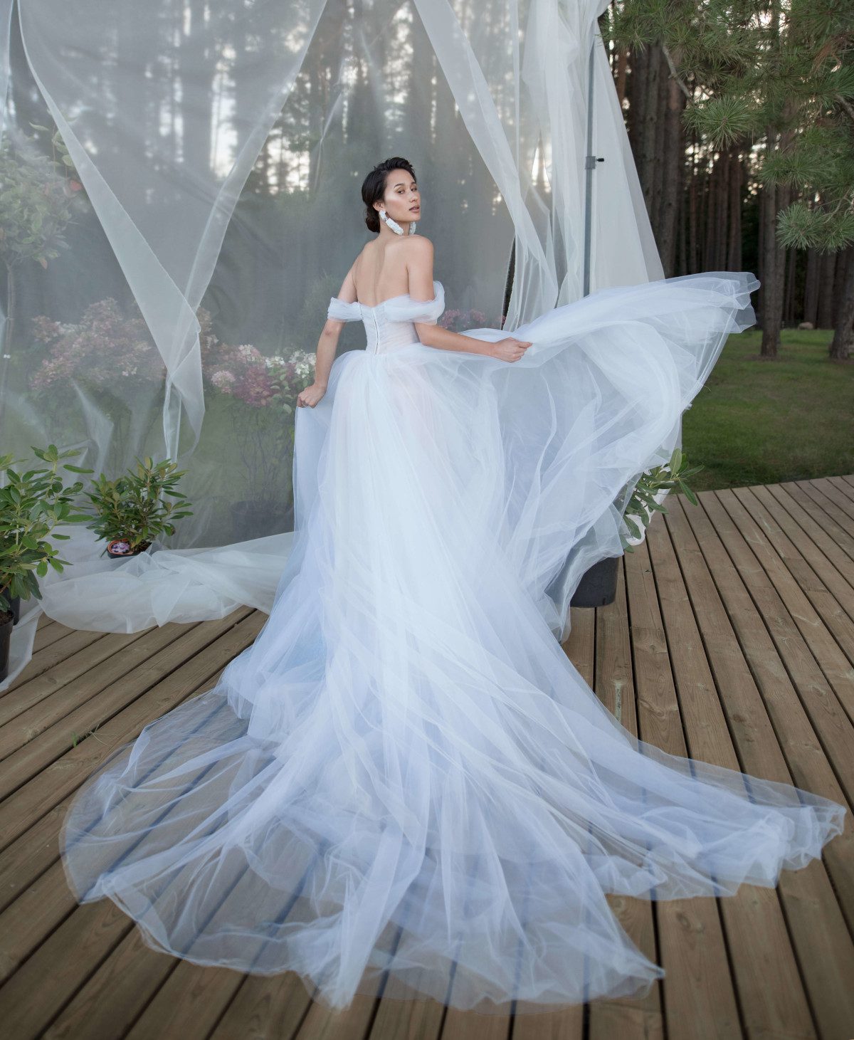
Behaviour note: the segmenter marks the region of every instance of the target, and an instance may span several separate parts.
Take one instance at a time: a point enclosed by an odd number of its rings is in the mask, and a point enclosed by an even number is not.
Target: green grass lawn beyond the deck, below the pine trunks
[[[854,473],[854,362],[828,360],[827,330],[783,331],[776,361],[760,338],[730,336],[682,416],[695,491]]]

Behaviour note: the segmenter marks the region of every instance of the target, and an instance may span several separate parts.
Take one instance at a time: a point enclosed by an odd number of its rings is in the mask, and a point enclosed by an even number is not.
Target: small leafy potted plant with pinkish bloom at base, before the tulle
[[[112,558],[134,556],[148,549],[158,535],[175,534],[173,520],[192,516],[186,501],[170,502],[163,495],[185,499],[175,485],[186,470],[178,470],[170,459],[154,463],[151,458],[136,459],[136,469],[129,469],[114,480],[101,473],[84,492],[95,510],[95,519],[86,524],[107,540],[104,551]],[[183,506],[175,512],[176,506]]]

